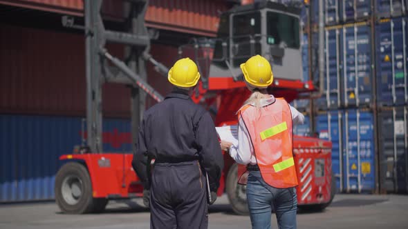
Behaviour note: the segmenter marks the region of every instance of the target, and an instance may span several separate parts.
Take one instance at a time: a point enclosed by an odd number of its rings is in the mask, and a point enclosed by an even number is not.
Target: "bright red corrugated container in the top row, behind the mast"
[[[122,21],[123,2],[104,0],[105,19]],[[10,6],[82,16],[83,0],[0,0]],[[218,0],[150,0],[145,15],[148,27],[214,37],[219,24],[219,12],[230,8],[227,1]]]

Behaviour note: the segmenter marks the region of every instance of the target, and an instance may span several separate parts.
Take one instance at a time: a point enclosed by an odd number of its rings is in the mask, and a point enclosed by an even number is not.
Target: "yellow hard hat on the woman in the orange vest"
[[[266,88],[273,81],[273,73],[267,59],[256,55],[245,63],[241,63],[241,70],[245,81],[255,87]]]

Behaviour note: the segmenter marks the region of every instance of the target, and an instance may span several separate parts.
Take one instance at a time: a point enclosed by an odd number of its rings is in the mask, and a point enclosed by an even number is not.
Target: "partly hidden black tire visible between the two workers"
[[[227,175],[227,182],[225,185],[228,199],[232,210],[237,215],[249,215],[248,203],[246,200],[246,186],[239,185],[238,181],[238,165],[234,163]]]

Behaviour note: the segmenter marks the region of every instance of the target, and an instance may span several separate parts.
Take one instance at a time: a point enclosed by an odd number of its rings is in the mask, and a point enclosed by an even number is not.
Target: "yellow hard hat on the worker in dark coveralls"
[[[168,76],[171,84],[191,88],[196,86],[198,79],[200,79],[200,72],[198,72],[196,63],[187,57],[176,61],[174,66],[170,68]]]

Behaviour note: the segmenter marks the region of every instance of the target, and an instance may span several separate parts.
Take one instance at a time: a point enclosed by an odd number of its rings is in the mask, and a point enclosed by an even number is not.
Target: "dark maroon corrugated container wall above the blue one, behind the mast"
[[[85,115],[84,37],[20,28],[1,24],[0,112],[35,115]],[[12,39],[11,39],[12,38]],[[123,46],[109,45],[116,57]],[[151,54],[171,66],[177,49],[154,44]],[[52,61],[52,64],[50,64]],[[171,89],[165,77],[148,65],[148,81],[158,92]],[[105,83],[102,109],[106,117],[130,116],[130,90],[124,85]],[[147,101],[147,107],[153,102]]]

